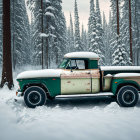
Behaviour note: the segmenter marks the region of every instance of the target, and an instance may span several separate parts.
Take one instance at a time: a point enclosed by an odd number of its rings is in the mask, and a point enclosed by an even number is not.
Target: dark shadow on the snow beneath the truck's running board
[[[109,97],[74,97],[74,98],[56,98],[53,101],[47,100],[46,106],[61,108],[69,107],[88,107],[93,108],[94,106],[107,106],[110,103],[115,102],[114,99]]]

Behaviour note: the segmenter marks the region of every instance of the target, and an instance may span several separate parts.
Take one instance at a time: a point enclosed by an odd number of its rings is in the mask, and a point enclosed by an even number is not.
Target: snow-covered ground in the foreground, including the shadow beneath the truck
[[[29,109],[13,91],[0,89],[0,140],[139,140],[140,101],[120,108],[112,99],[70,98]]]

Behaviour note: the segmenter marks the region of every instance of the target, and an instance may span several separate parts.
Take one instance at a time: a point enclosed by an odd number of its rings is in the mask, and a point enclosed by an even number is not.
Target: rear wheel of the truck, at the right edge
[[[138,90],[133,86],[123,86],[117,94],[117,102],[122,107],[134,107],[138,99]]]

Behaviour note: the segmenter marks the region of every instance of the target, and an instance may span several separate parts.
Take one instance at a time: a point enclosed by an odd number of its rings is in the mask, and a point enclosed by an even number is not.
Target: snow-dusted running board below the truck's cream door
[[[69,97],[98,97],[98,96],[114,96],[111,92],[97,93],[97,94],[76,94],[76,95],[58,95],[57,98],[69,98]]]

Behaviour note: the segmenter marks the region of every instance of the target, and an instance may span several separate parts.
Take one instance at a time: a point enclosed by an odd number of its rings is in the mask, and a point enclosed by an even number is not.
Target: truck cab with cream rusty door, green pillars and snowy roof
[[[79,53],[80,54],[80,53]],[[61,94],[91,94],[100,92],[100,70],[98,55],[92,57],[84,53],[70,53],[64,56],[59,68],[61,74]]]

